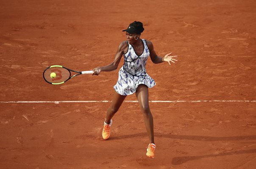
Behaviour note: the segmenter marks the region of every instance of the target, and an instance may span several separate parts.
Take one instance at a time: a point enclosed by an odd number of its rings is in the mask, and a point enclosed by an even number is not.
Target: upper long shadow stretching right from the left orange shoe
[[[214,141],[236,141],[236,140],[256,140],[256,135],[251,136],[228,136],[228,137],[214,137],[214,136],[189,136],[189,135],[173,135],[173,134],[162,134],[162,133],[154,133],[155,137],[164,137],[170,139],[185,139],[185,140],[199,140],[203,142],[214,142]],[[122,136],[113,136],[109,139],[128,139],[128,138],[136,138],[136,137],[147,137],[147,133],[136,133],[130,135],[122,135]]]

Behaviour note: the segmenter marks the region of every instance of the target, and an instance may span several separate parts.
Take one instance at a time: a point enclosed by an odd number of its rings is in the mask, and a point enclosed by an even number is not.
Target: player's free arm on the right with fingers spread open
[[[147,41],[147,47],[148,47],[149,52],[150,52],[150,58],[151,58],[152,62],[155,63],[155,64],[162,63],[162,62],[168,62],[169,65],[171,65],[170,62],[175,63],[174,61],[178,61],[176,59],[173,59],[173,57],[177,57],[177,56],[172,56],[172,52],[168,53],[164,57],[157,56],[156,52],[154,50],[154,46],[153,46],[152,42],[150,42],[150,41]]]

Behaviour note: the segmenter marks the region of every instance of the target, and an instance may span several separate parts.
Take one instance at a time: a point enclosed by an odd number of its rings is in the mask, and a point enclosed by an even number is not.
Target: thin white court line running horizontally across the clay
[[[111,101],[0,101],[0,103],[108,103]],[[137,103],[138,101],[124,101],[126,103]],[[198,100],[198,101],[149,101],[150,103],[196,103],[196,102],[256,102],[256,100]]]

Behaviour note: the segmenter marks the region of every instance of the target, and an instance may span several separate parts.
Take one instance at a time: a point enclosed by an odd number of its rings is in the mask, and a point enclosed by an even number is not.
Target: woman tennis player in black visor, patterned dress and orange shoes
[[[153,44],[150,41],[140,38],[143,30],[142,22],[137,21],[134,21],[127,29],[123,30],[123,32],[126,32],[127,40],[122,41],[119,45],[114,61],[109,65],[94,68],[92,75],[99,75],[101,71],[116,70],[122,55],[124,56],[124,65],[120,68],[117,84],[114,85],[114,97],[106,114],[102,137],[103,139],[109,138],[112,117],[122,105],[125,97],[135,93],[144,116],[144,123],[150,140],[146,155],[154,158],[156,145],[154,142],[153,117],[149,108],[148,88],[156,84],[146,73],[147,58],[150,56],[155,64],[164,61],[170,64],[170,62],[174,63],[174,61],[177,61],[173,59],[173,57],[177,56],[171,56],[172,53],[164,57],[157,56]]]

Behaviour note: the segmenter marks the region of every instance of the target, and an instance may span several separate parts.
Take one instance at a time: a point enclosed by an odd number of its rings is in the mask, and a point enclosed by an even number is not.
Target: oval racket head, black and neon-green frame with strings
[[[51,73],[55,73],[56,77],[52,78],[50,76]],[[60,85],[70,79],[71,72],[61,65],[52,65],[45,69],[43,77],[47,83],[52,85]]]

